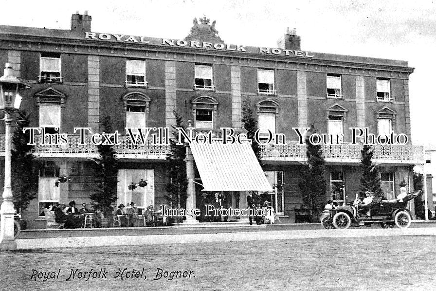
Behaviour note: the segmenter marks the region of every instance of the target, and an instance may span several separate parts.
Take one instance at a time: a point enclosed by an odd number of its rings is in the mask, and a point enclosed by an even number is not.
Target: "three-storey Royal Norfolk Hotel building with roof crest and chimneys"
[[[348,200],[360,191],[362,145],[350,145],[349,127],[409,137],[407,145],[374,146],[373,163],[387,198],[398,195],[403,180],[412,191],[412,167],[423,164],[423,148],[410,142],[413,68],[407,61],[305,51],[295,31],[288,31],[277,48],[250,47],[225,43],[215,21],[206,18],[195,19],[185,38],[168,39],[92,32],[91,16],[76,13],[67,30],[0,26],[0,65],[5,63],[32,87],[22,91],[31,126],[67,133],[69,140],[68,145],[36,143],[38,193],[23,213],[29,228],[45,227],[40,215],[46,203],[90,202],[98,152],[89,140],[78,145],[73,128],[101,133],[108,115],[113,130],[122,134],[115,146],[117,202],[134,201],[139,208],[167,203],[168,147],[133,145],[126,127],[172,127],[174,109],[198,131],[219,134],[220,127],[233,127],[241,132],[241,107],[249,99],[258,127],[287,137],[285,145],[261,146],[260,165],[249,145],[188,146],[187,208],[200,208],[205,191],[224,195],[227,208],[246,207],[248,190],[268,191],[277,214],[294,222],[303,206],[298,182],[307,158],[292,127],[314,124],[320,133],[344,134],[343,144],[323,145],[326,200],[344,200],[335,182],[345,185]],[[4,133],[0,138],[4,157]],[[64,176],[69,180],[56,187]],[[128,184],[140,179],[147,186],[130,191]]]

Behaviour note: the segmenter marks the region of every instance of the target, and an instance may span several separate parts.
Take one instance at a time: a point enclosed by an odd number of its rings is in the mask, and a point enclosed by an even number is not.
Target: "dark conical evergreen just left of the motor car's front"
[[[303,193],[303,203],[312,213],[321,212],[326,204],[326,180],[324,179],[325,160],[321,145],[313,145],[309,141],[310,134],[315,133],[312,125],[306,136],[306,155],[308,161],[303,166],[302,180],[299,183]]]

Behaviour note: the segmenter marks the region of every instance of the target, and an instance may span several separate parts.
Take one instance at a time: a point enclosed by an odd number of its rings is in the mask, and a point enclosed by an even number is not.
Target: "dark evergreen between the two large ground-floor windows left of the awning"
[[[104,132],[112,133],[110,117],[103,118]],[[97,203],[106,218],[112,211],[111,204],[117,200],[118,161],[112,145],[97,145],[100,158],[95,168],[96,190],[90,195],[91,200]]]

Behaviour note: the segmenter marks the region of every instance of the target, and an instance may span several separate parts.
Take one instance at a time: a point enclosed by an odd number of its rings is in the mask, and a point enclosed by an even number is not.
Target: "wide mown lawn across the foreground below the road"
[[[0,289],[434,290],[435,243],[434,236],[392,236],[3,252]],[[66,281],[71,268],[106,268],[108,278]],[[114,279],[118,268],[145,268],[147,278]],[[157,268],[194,273],[153,280]],[[33,269],[61,272],[35,282]]]

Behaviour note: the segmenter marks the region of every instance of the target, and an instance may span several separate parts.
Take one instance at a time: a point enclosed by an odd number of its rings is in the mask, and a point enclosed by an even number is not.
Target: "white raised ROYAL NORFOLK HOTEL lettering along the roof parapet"
[[[272,49],[264,47],[247,47],[244,45],[234,45],[225,43],[212,43],[205,41],[195,41],[195,40],[184,40],[184,39],[170,39],[170,38],[149,38],[145,36],[129,36],[129,35],[116,35],[116,34],[106,34],[106,33],[94,33],[85,32],[85,38],[95,39],[95,40],[107,40],[107,41],[118,41],[124,43],[142,43],[142,44],[154,44],[163,46],[177,46],[177,47],[189,47],[196,49],[207,49],[214,51],[234,51],[243,53],[258,53],[264,55],[287,55],[287,56],[297,56],[297,57],[308,57],[311,58],[309,52],[297,51],[297,50],[286,50],[286,49]]]

